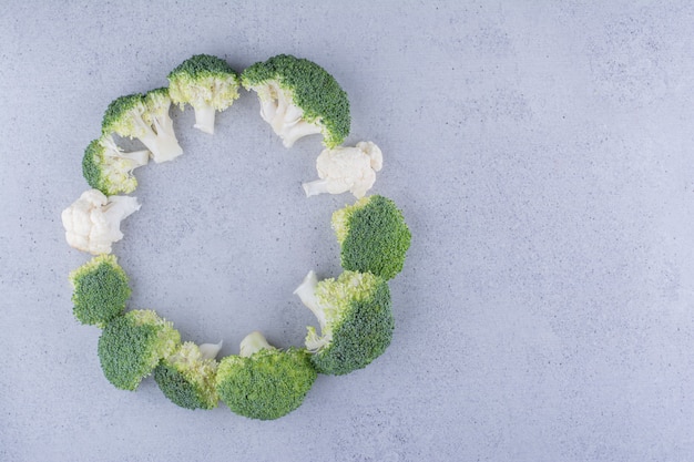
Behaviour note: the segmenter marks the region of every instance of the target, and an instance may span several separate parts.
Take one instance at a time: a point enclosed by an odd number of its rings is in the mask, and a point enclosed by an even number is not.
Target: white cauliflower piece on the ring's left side
[[[92,255],[110,254],[111,244],[123,238],[121,222],[139,209],[136,197],[106,197],[99,189],[85,191],[62,212],[68,244]]]

